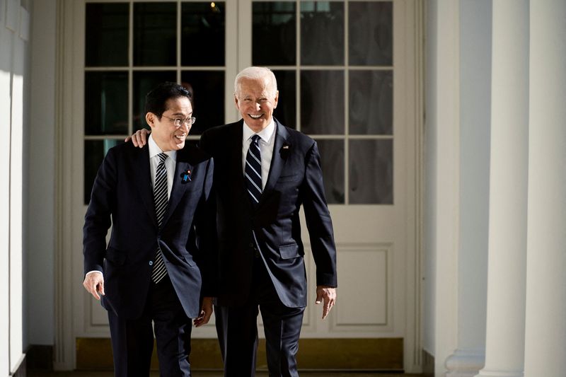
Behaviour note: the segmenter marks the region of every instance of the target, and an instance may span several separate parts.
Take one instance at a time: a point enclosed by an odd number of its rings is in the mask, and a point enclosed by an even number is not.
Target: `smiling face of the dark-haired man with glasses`
[[[163,116],[158,117],[153,112],[146,114],[146,122],[151,127],[154,141],[161,151],[178,151],[185,146],[185,139],[190,131],[190,124],[184,123],[179,127],[171,119],[186,119],[192,117],[192,106],[187,97],[169,98],[166,102]],[[169,119],[171,118],[171,119]]]

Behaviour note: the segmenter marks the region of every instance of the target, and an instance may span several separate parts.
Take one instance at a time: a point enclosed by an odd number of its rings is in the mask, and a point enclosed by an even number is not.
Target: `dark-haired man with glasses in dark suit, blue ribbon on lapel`
[[[191,318],[208,323],[216,295],[213,162],[185,145],[195,117],[183,86],[150,91],[146,122],[148,145],[115,146],[98,170],[83,286],[108,311],[115,376],[149,376],[155,332],[161,376],[187,377]]]

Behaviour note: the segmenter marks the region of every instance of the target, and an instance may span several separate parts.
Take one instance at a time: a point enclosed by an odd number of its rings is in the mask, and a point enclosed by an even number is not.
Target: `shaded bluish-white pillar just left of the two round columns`
[[[490,1],[459,3],[458,342],[446,377],[473,377],[485,357],[492,8]]]

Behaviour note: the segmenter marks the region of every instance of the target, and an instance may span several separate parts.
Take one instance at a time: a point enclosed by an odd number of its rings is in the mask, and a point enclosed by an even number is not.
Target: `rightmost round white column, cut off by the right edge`
[[[530,2],[525,376],[566,376],[566,1]]]

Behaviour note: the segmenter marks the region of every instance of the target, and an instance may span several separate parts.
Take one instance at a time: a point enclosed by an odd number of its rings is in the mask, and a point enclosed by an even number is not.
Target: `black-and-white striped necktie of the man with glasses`
[[[161,229],[161,224],[163,223],[163,214],[167,209],[168,198],[167,198],[167,169],[165,167],[165,160],[167,155],[165,153],[159,153],[159,163],[157,165],[155,173],[155,187],[154,187],[154,201],[155,201],[155,214],[157,217],[157,225]],[[163,255],[161,253],[161,248],[159,244],[157,245],[157,250],[155,252],[154,269],[151,271],[151,280],[154,283],[158,283],[167,274],[167,269],[165,263],[163,262]]]

